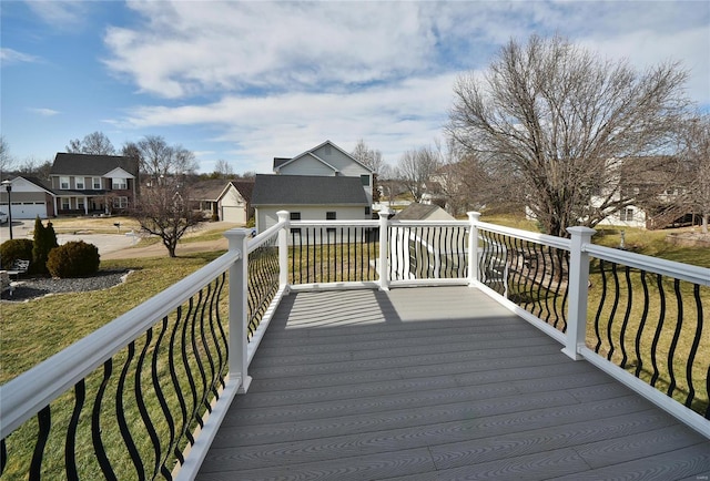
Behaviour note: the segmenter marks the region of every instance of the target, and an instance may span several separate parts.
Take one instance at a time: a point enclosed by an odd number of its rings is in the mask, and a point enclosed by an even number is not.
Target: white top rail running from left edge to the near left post
[[[120,349],[145,332],[241,258],[230,250],[17,378],[0,386],[0,439],[71,389]]]

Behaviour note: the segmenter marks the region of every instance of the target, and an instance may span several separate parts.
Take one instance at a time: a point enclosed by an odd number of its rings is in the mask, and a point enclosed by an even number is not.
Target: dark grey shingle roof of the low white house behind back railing
[[[320,175],[256,175],[252,204],[368,206],[357,177]]]

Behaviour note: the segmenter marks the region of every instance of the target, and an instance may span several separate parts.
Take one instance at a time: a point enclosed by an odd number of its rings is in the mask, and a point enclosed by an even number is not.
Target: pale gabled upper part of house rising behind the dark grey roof
[[[275,157],[274,173],[277,175],[357,177],[365,195],[367,195],[367,202],[373,203],[373,170],[331,141],[325,141],[292,158]]]

